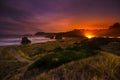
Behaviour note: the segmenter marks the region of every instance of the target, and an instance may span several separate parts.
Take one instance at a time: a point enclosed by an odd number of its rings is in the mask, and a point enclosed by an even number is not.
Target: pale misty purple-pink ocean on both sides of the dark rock
[[[54,41],[54,39],[50,39],[42,36],[29,36],[29,40],[31,40],[31,44],[34,43],[43,43],[48,41]],[[21,45],[22,37],[2,37],[0,38],[0,46],[10,46],[10,45]]]

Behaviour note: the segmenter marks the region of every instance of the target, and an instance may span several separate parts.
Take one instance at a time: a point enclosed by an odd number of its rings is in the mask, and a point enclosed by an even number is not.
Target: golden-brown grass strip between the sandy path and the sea
[[[41,54],[49,53],[57,47],[66,48],[68,46],[72,46],[74,43],[80,42],[81,40],[83,39],[70,38],[70,39],[57,40],[52,42],[40,43],[40,44],[21,45],[21,46],[17,46],[17,48],[32,58],[36,55],[39,56]]]

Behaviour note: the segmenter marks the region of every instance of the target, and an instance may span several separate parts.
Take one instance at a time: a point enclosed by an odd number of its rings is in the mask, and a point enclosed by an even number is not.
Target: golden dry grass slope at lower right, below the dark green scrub
[[[102,53],[45,72],[36,80],[119,80],[120,57]]]

